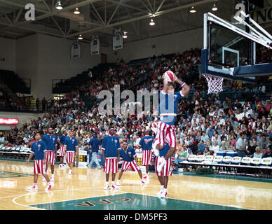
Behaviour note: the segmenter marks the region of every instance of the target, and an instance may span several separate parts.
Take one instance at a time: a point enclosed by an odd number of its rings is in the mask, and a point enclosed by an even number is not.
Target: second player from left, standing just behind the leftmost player
[[[57,137],[55,134],[53,134],[53,129],[52,127],[48,128],[48,134],[43,135],[42,139],[47,146],[47,158],[46,158],[46,172],[48,169],[48,164],[50,164],[50,169],[51,169],[51,181],[55,181],[55,176],[54,176],[54,163],[55,163],[55,158],[57,158]],[[43,181],[46,181],[43,179]]]

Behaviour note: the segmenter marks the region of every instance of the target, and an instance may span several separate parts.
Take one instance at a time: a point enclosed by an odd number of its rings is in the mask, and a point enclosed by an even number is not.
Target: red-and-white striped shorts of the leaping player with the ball
[[[170,148],[176,148],[175,126],[162,123],[159,120],[157,123],[157,134],[155,142],[160,146],[164,146],[165,143],[168,143]]]

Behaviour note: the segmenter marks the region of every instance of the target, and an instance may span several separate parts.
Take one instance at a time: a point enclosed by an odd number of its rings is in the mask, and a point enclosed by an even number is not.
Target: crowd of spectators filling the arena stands
[[[271,156],[272,145],[272,94],[270,99],[260,100],[261,92],[266,92],[263,85],[252,90],[242,83],[226,81],[231,90],[243,90],[247,94],[245,102],[233,101],[229,96],[219,99],[218,95],[201,97],[207,92],[207,83],[198,73],[200,49],[179,52],[166,58],[154,56],[137,66],[128,66],[121,60],[115,67],[104,71],[102,77],[90,76],[86,84],[74,87],[64,99],[51,102],[53,111],[44,116],[15,127],[0,138],[6,146],[29,146],[34,139],[34,132],[45,134],[52,127],[60,136],[63,130],[73,130],[80,146],[85,146],[93,134],[102,141],[108,134],[109,127],[116,127],[121,141],[137,146],[141,137],[148,130],[155,137],[151,123],[156,122],[158,114],[100,115],[98,113],[98,94],[101,90],[114,91],[114,85],[128,87],[136,80],[149,74],[144,83],[135,85],[133,90],[161,90],[162,75],[165,69],[174,69],[177,76],[191,85],[193,97],[180,100],[175,123],[177,134],[176,162],[186,160],[188,155],[213,155],[219,151],[236,151],[240,156]],[[95,104],[86,105],[87,101]],[[92,100],[91,100],[92,99]],[[3,140],[4,138],[4,140]]]

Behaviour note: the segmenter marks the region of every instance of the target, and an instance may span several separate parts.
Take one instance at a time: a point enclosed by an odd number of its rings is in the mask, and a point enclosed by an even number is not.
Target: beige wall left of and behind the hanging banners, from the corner
[[[16,42],[16,73],[22,78],[31,78],[34,97],[50,99],[52,80],[65,79],[87,71],[100,64],[101,55],[90,55],[90,44],[81,42],[81,58],[71,59],[72,40],[34,34]],[[111,52],[101,48],[108,59]]]

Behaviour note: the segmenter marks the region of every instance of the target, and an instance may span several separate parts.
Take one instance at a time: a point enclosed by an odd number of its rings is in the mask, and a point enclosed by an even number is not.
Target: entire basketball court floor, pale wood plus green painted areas
[[[156,193],[160,186],[155,173],[147,185],[139,176],[125,172],[119,190],[103,190],[102,170],[55,166],[55,186],[46,192],[39,176],[36,192],[33,163],[1,161],[0,209],[13,210],[236,210],[271,209],[272,180],[243,176],[206,175],[180,172],[170,176],[168,199]],[[49,173],[49,172],[48,172]],[[49,175],[50,176],[50,175]]]

